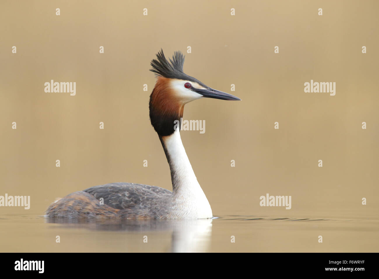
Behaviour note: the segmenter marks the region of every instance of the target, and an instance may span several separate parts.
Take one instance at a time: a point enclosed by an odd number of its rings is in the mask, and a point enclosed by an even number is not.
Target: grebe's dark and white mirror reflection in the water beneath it
[[[125,232],[171,232],[171,252],[207,252],[212,234],[212,219],[168,220],[78,220],[47,219],[47,223],[90,230]]]

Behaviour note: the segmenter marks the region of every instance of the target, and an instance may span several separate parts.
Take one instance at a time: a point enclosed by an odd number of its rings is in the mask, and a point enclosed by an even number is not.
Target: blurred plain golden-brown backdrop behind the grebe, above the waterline
[[[378,8],[377,1],[2,1],[0,195],[31,196],[31,208],[2,207],[0,215],[43,215],[56,197],[110,182],[171,190],[148,109],[149,63],[163,48],[166,57],[185,53],[186,74],[242,99],[197,100],[184,111],[206,123],[204,134],[181,135],[215,216],[377,219]],[[76,82],[76,96],[45,93],[51,79]],[[311,79],[336,82],[335,96],[304,93]],[[291,210],[260,207],[266,193],[292,196]]]

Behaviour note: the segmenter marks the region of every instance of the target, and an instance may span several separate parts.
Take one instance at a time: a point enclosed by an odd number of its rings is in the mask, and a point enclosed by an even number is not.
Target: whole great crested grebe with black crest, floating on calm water
[[[151,61],[157,82],[150,95],[150,121],[171,170],[172,192],[136,183],[109,183],[71,193],[47,208],[48,218],[208,219],[212,210],[180,139],[184,105],[203,97],[240,100],[183,73],[184,56],[168,61],[163,50]],[[175,122],[174,122],[175,121]]]

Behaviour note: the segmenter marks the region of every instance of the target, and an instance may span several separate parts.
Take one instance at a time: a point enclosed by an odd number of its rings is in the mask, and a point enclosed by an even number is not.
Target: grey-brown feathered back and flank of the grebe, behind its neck
[[[171,195],[171,191],[157,186],[109,183],[63,197],[47,208],[46,215],[68,219],[161,219],[168,214]]]

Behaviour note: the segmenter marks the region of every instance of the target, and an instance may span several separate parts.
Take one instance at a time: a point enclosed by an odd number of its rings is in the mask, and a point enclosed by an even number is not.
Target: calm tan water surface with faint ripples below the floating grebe
[[[379,251],[378,219],[218,216],[52,223],[43,216],[6,215],[0,223],[0,252]]]

